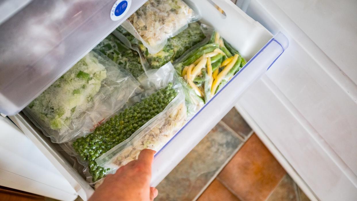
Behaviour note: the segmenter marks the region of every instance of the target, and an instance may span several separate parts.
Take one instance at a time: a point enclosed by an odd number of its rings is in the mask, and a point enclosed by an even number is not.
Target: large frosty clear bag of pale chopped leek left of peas
[[[24,110],[52,142],[62,143],[112,115],[139,93],[127,71],[91,51]]]

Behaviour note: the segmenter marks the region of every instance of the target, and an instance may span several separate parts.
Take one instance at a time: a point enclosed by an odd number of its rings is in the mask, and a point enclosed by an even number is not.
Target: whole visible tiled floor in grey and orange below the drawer
[[[234,108],[157,189],[155,200],[308,201]]]

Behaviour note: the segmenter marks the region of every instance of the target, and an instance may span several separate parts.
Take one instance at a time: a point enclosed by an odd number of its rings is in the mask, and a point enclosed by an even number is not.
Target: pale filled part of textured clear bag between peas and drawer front
[[[152,149],[160,151],[186,123],[185,97],[181,92],[162,111],[157,119],[124,145],[118,145],[96,161],[104,168],[118,169],[132,160],[137,160],[140,151]]]

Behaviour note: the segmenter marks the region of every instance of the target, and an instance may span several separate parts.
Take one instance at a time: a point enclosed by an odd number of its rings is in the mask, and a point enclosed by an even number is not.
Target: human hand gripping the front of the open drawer
[[[114,175],[107,175],[89,201],[154,200],[158,194],[157,189],[150,187],[154,154],[154,150],[144,149],[136,161],[120,167]]]

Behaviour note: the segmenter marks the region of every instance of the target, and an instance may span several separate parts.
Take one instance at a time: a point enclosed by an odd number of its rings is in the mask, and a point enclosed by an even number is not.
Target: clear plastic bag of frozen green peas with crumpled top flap
[[[90,184],[95,184],[112,171],[98,165],[96,159],[108,151],[113,152],[117,147],[130,146],[140,131],[161,118],[173,100],[176,102],[177,99],[184,99],[182,87],[171,63],[158,70],[148,71],[138,79],[144,92],[130,99],[125,107],[102,121],[94,131],[87,131],[84,136],[78,136],[64,144],[64,149],[85,166],[84,174]]]

